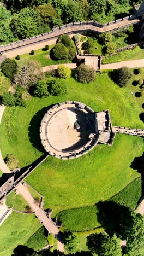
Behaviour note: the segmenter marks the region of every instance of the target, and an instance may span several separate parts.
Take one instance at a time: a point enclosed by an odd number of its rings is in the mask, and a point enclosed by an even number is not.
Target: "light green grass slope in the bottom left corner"
[[[40,226],[33,214],[11,213],[0,229],[0,255],[10,256],[14,248],[24,245]]]

